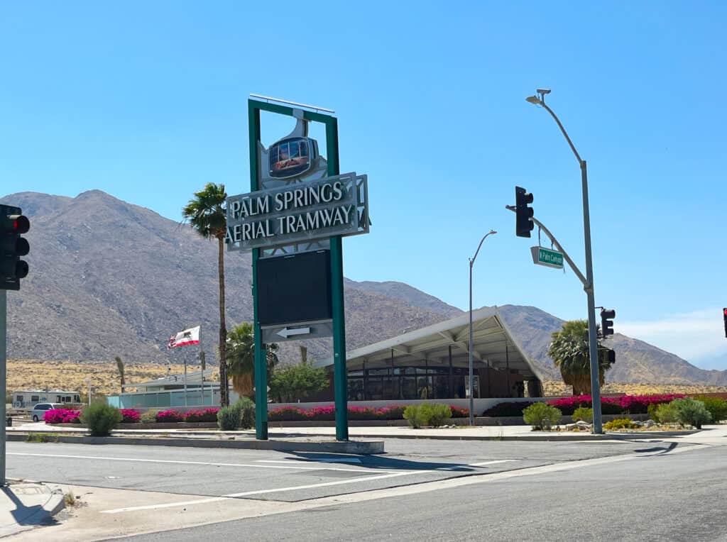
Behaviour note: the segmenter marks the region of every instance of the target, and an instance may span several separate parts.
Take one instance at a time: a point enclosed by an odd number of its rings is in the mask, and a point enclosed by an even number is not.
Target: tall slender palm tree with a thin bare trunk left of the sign
[[[225,325],[225,233],[227,214],[225,211],[225,185],[208,182],[201,192],[182,209],[182,216],[206,239],[217,239],[217,274],[220,280],[220,405],[230,404],[227,378],[227,327]]]

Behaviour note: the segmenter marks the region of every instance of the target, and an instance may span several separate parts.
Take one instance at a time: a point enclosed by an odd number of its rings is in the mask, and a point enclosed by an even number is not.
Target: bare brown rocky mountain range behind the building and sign
[[[161,217],[100,190],[68,198],[17,193],[0,203],[31,219],[26,237],[30,274],[8,295],[8,357],[33,360],[124,360],[181,363],[194,349],[166,349],[166,339],[201,325],[201,345],[215,352],[218,333],[217,244],[188,225]],[[228,328],[252,319],[248,254],[225,254]],[[345,280],[349,349],[462,314],[400,282]],[[550,334],[563,320],[537,307],[498,307],[508,326],[548,377]],[[727,371],[706,371],[651,344],[616,333],[608,381],[726,385]],[[302,341],[309,357],[329,355],[330,339]],[[184,352],[180,352],[180,351]],[[282,363],[300,359],[281,344]],[[210,356],[208,359],[212,359]]]

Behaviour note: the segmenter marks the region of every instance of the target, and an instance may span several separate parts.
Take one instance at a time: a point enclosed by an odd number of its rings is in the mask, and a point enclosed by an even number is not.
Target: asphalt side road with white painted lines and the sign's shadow
[[[387,440],[380,456],[7,443],[7,477],[197,496],[304,501],[632,453],[634,442]]]

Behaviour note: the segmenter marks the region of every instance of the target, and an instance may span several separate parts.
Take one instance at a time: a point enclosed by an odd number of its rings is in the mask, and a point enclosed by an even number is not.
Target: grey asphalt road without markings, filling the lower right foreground
[[[576,448],[582,447],[579,443]],[[494,448],[485,455],[492,456]],[[504,480],[128,540],[726,541],[725,448],[702,446],[683,453],[659,443],[638,448],[643,450],[636,453],[640,457],[625,460],[583,461],[570,464],[571,469],[539,474],[539,469],[530,469],[535,474],[525,470]],[[538,449],[530,453],[550,455]],[[572,453],[574,448],[561,444],[553,450],[554,456]]]

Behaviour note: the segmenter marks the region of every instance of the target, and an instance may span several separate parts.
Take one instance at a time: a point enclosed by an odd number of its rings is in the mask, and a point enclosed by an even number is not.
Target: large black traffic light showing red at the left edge
[[[0,290],[20,290],[20,279],[28,275],[28,263],[20,256],[31,250],[28,232],[31,222],[20,207],[0,205]]]

